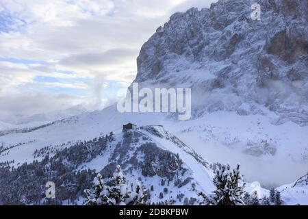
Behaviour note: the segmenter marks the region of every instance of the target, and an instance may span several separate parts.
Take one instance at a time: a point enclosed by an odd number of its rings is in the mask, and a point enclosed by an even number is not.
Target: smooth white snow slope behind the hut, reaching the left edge
[[[5,133],[0,135],[0,145],[5,153],[0,153],[0,162],[14,159],[15,165],[34,160],[33,151],[45,146],[68,144],[97,138],[101,133],[110,133],[120,129],[125,123],[138,125],[162,124],[163,115],[120,114],[116,106],[108,107],[99,112],[91,112],[73,116],[54,123],[23,132]],[[1,132],[0,132],[1,133]]]

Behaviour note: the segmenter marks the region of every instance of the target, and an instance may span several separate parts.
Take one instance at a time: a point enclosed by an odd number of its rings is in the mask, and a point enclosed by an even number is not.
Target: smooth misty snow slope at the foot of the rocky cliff
[[[290,183],[308,171],[307,126],[214,112],[166,128],[211,162],[242,164],[246,180],[267,187]]]

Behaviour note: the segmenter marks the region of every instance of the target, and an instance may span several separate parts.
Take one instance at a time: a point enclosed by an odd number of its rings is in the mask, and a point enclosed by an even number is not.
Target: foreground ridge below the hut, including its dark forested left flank
[[[73,197],[82,196],[82,191],[79,190],[81,183],[90,186],[90,181],[78,181],[75,175],[78,177],[81,172],[87,175],[90,169],[101,172],[101,175],[107,178],[112,175],[116,165],[122,167],[129,181],[138,180],[149,190],[151,188],[150,203],[171,201],[181,205],[198,204],[195,190],[207,193],[214,190],[214,173],[209,163],[160,126],[118,130],[109,136],[79,142],[69,147],[64,144],[28,151],[40,162],[20,166],[12,170],[11,174],[8,173],[10,170],[5,168],[7,164],[1,164],[0,202],[18,204],[21,197],[24,197],[23,200],[27,203],[41,202],[44,200],[44,193],[40,183],[46,177],[52,181],[57,179],[57,184],[70,185],[70,192],[66,193],[66,196],[65,193],[61,194],[59,201],[68,198],[76,201]],[[49,159],[47,155],[54,158]],[[66,177],[74,172],[73,177]],[[20,177],[17,179],[15,175]],[[88,175],[92,176],[92,172],[88,172]],[[27,180],[31,181],[31,190],[15,186]],[[8,183],[12,186],[4,190]]]

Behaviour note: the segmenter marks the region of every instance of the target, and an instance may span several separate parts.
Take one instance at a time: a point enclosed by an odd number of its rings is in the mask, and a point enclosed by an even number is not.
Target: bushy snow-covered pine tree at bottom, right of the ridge
[[[242,200],[245,183],[242,183],[240,174],[240,164],[231,170],[230,165],[221,165],[216,170],[216,176],[213,179],[216,190],[207,196],[203,192],[198,195],[203,197],[201,204],[205,205],[245,205]],[[240,185],[242,183],[242,185]]]

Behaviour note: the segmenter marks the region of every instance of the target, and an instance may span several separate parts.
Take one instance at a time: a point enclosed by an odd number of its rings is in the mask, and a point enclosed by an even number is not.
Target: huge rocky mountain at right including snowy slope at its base
[[[286,170],[295,179],[308,170],[307,1],[261,1],[260,21],[251,18],[253,3],[173,14],[142,46],[135,82],[192,88],[193,119],[168,129],[214,155],[207,159],[233,154],[251,180],[260,172],[259,181],[286,183]]]

